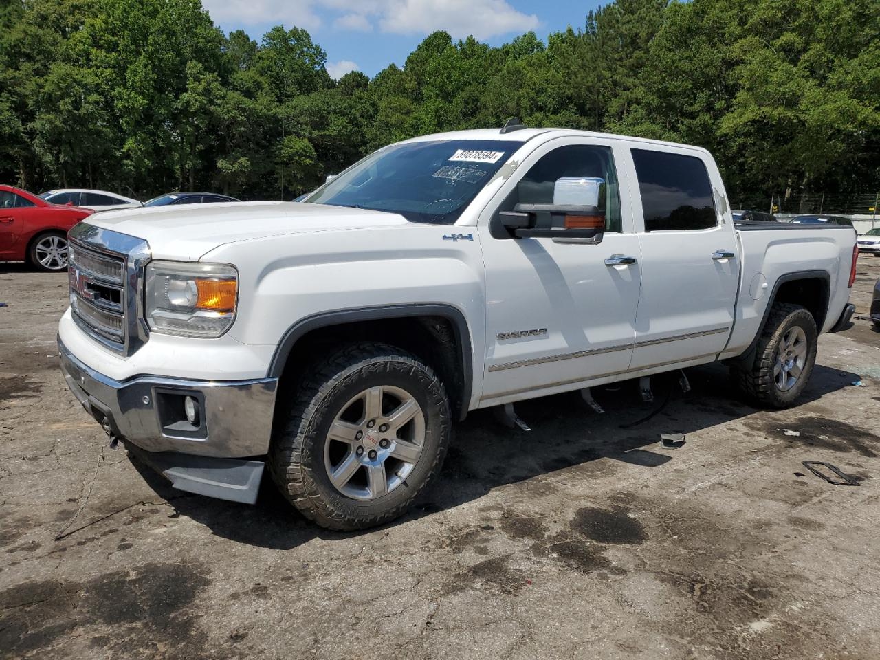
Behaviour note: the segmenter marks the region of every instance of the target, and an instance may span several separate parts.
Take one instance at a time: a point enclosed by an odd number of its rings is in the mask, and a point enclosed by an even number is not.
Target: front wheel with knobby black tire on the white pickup
[[[440,471],[450,438],[449,400],[434,370],[400,348],[362,342],[304,378],[269,463],[305,517],[359,530],[409,508]]]

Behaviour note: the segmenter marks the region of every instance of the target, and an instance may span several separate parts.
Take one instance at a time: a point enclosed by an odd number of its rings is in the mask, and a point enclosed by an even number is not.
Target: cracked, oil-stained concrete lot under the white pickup
[[[862,315],[880,259],[859,274]],[[656,378],[668,405],[629,428],[651,410],[631,382],[598,388],[604,415],[576,393],[518,406],[531,433],[474,413],[412,513],[342,534],[268,482],[253,507],[209,500],[104,447],[58,370],[66,290],[0,270],[2,658],[880,656],[880,334],[865,319],[822,336],[787,411],[744,405],[709,366],[687,394]]]

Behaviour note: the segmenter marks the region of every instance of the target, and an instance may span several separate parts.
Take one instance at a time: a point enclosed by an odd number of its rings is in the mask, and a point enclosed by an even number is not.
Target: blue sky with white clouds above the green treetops
[[[375,76],[402,64],[427,34],[454,39],[473,34],[499,45],[534,30],[541,39],[567,26],[581,27],[597,0],[202,0],[225,32],[243,29],[260,40],[272,26],[304,27],[326,50],[327,70]]]

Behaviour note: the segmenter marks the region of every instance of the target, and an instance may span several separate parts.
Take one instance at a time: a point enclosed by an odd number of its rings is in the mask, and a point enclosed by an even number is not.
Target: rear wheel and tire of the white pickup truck
[[[794,404],[816,363],[816,320],[799,304],[775,303],[755,348],[751,366],[731,368],[737,387],[761,406]]]

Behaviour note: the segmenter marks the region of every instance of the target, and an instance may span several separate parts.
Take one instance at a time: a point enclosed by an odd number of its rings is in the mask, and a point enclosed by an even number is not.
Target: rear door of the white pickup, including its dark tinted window
[[[734,231],[716,207],[722,182],[701,151],[639,144],[631,154],[643,225],[630,370],[708,361],[730,336],[739,279]]]

